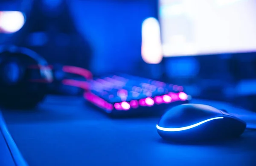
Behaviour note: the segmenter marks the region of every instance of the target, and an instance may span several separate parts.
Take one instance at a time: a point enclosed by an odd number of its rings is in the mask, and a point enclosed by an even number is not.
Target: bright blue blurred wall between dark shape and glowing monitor
[[[93,73],[137,70],[141,25],[155,15],[154,0],[70,2],[76,27],[93,48]]]

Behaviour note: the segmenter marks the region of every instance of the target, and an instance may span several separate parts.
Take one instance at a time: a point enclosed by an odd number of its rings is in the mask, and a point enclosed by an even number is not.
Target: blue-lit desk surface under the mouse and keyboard
[[[253,114],[242,116],[244,110],[221,102],[193,102],[227,109],[244,120]],[[155,128],[159,118],[111,119],[77,97],[60,96],[48,96],[35,110],[3,110],[3,116],[29,166],[256,165],[253,130],[233,141],[166,143]]]

